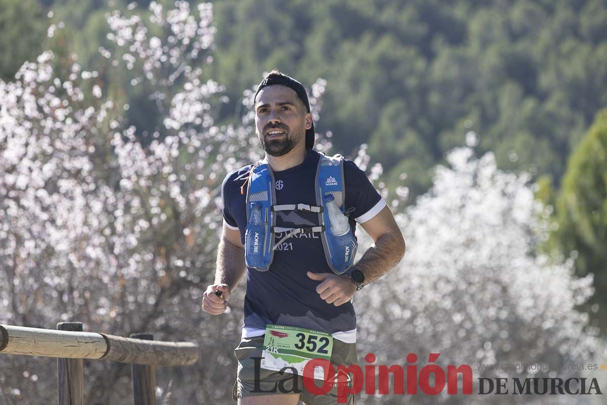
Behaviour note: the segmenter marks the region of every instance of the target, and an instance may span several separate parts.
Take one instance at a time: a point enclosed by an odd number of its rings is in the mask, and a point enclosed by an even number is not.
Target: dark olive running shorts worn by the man
[[[234,355],[238,359],[238,372],[236,377],[236,383],[234,383],[234,389],[232,390],[232,398],[242,398],[243,396],[256,396],[256,395],[272,395],[274,393],[299,393],[299,399],[304,401],[307,405],[334,405],[337,404],[337,387],[333,387],[326,395],[313,395],[304,387],[304,379],[302,376],[297,376],[297,383],[294,383],[293,374],[283,373],[265,370],[259,368],[259,383],[257,383],[258,391],[276,391],[276,392],[254,392],[256,390],[256,360],[254,358],[261,358],[263,351],[263,338],[262,336],[255,336],[254,338],[243,338],[236,349],[234,349]],[[331,363],[334,365],[333,370],[337,372],[337,365],[350,366],[351,364],[358,364],[358,357],[356,356],[356,344],[345,343],[338,339],[333,339],[333,352],[331,353]],[[260,360],[257,360],[257,364],[260,364]],[[350,381],[353,376],[350,374]],[[275,387],[282,383],[283,392],[276,390]],[[320,386],[320,384],[317,384]],[[349,395],[347,404],[352,405],[354,403],[354,395]]]

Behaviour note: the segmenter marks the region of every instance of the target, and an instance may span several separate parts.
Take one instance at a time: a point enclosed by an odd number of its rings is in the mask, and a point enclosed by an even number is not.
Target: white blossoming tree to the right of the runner
[[[587,314],[575,309],[592,293],[592,277],[573,276],[571,259],[554,263],[535,254],[547,237],[548,214],[534,200],[529,176],[500,171],[491,152],[477,158],[475,137],[450,152],[450,167],[436,169],[432,189],[397,216],[407,253],[354,302],[361,353],[376,353],[377,363],[388,365],[404,365],[415,353],[418,370],[429,353],[441,353],[435,363],[443,370],[472,367],[475,393],[480,377],[577,375],[559,367],[587,363],[598,350]],[[495,367],[503,363],[521,369]],[[420,392],[410,403],[572,403],[565,395],[446,392]],[[402,403],[398,396],[373,399],[365,403]]]

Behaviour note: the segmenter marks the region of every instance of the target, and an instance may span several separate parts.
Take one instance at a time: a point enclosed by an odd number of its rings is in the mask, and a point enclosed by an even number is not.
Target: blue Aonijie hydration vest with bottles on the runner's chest
[[[350,226],[341,236],[331,234],[328,210],[323,197],[331,194],[342,213],[345,212],[344,157],[320,154],[314,188],[316,206],[307,204],[276,205],[275,180],[267,160],[260,160],[249,172],[246,193],[245,261],[246,266],[267,271],[274,257],[274,250],[289,237],[300,233],[319,233],[327,264],[336,274],[345,273],[353,264],[356,254],[356,237]],[[243,185],[244,187],[244,185]],[[242,189],[241,189],[242,191]],[[330,202],[333,203],[333,202]],[[252,215],[253,209],[256,211]],[[282,228],[276,226],[277,211],[308,211],[318,214],[318,226]],[[276,233],[286,233],[275,242]]]

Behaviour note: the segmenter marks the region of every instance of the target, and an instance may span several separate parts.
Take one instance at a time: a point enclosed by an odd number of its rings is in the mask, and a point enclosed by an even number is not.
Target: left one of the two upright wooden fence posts
[[[58,322],[58,330],[82,332],[82,322]],[[57,359],[59,405],[83,405],[83,359]]]

